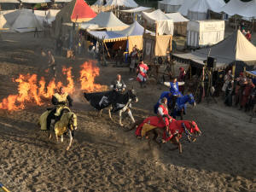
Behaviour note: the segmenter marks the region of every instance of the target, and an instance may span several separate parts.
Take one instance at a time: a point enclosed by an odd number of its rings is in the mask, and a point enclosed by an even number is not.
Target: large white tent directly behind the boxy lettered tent
[[[224,0],[197,0],[189,8],[188,17],[190,20],[206,20],[208,10],[220,12],[224,5]]]

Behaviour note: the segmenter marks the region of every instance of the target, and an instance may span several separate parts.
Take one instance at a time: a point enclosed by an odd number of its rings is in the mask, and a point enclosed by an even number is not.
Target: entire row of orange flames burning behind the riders
[[[84,62],[80,67],[79,82],[81,90],[87,92],[108,90],[108,86],[94,83],[96,76],[100,74],[100,69],[94,67],[91,61]],[[38,106],[41,106],[44,104],[42,99],[51,98],[55,94],[55,90],[61,86],[69,94],[73,94],[75,83],[72,75],[72,67],[62,67],[62,73],[66,76],[67,85],[63,85],[60,81],[55,82],[55,79],[51,79],[49,84],[46,84],[44,77],[41,77],[38,81],[37,74],[20,74],[19,78],[14,80],[18,83],[18,94],[3,98],[3,101],[0,102],[0,108],[9,111],[24,109],[26,102],[34,102]]]

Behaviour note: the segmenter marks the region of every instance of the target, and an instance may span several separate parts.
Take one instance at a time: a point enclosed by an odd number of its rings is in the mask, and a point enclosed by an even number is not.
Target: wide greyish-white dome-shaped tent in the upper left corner
[[[38,31],[43,30],[36,15],[29,9],[16,10],[8,14],[8,18],[6,18],[6,20],[8,22],[10,20],[9,24],[12,23],[11,28],[16,32],[32,32],[35,31],[36,28],[38,28]]]

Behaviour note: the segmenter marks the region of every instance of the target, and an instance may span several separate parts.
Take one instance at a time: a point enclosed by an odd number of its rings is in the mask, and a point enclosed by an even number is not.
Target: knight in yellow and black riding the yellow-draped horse
[[[70,111],[69,108],[72,107],[73,99],[64,91],[63,87],[61,87],[59,92],[52,96],[51,102],[55,105],[55,108],[52,109],[47,116],[47,130],[49,130],[51,119],[55,119],[55,122],[57,122],[61,119],[61,113],[63,113],[64,110]],[[67,104],[69,108],[67,108]]]

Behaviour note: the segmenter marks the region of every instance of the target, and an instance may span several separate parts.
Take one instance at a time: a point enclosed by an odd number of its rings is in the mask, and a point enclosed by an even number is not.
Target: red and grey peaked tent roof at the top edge
[[[96,13],[90,9],[89,5],[84,0],[73,0],[61,9],[56,15],[57,22],[83,22],[96,17]]]

